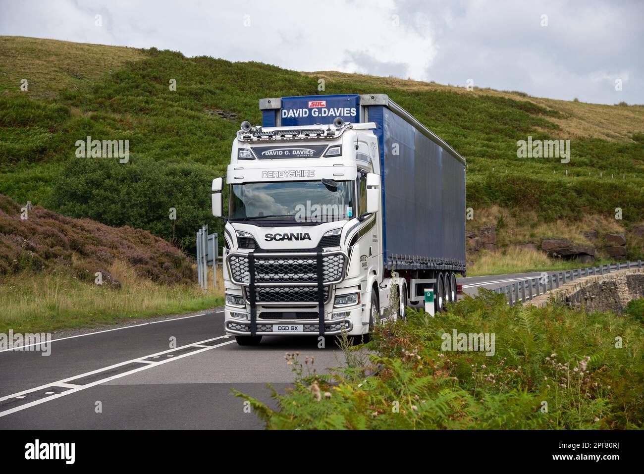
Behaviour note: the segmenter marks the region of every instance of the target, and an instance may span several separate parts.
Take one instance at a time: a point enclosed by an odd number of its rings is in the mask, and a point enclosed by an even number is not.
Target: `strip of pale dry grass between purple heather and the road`
[[[141,278],[122,261],[109,272],[120,289],[88,284],[66,271],[53,269],[17,274],[0,285],[0,332],[48,332],[62,327],[95,326],[126,318],[180,314],[223,302],[221,271],[218,289],[204,294],[198,285],[168,287]],[[211,272],[212,278],[212,272]]]

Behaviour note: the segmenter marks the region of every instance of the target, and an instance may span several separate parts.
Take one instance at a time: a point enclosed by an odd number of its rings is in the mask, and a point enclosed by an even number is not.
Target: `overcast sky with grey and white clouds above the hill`
[[[638,0],[0,0],[1,35],[605,104],[644,104],[643,23]]]

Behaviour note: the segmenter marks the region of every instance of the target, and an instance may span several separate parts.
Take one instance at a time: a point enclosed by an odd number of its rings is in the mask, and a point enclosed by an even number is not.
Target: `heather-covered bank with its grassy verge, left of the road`
[[[26,218],[21,218],[26,217]],[[184,252],[147,231],[109,227],[0,194],[0,332],[50,331],[221,305]]]

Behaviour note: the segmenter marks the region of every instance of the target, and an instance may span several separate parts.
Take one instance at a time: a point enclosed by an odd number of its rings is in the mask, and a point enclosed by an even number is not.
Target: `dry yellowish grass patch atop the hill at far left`
[[[146,57],[143,50],[55,39],[0,36],[0,91],[43,99]],[[20,91],[21,79],[29,90]]]

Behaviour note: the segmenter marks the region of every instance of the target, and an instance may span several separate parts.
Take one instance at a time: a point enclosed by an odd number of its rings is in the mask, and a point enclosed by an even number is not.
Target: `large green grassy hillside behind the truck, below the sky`
[[[588,243],[582,231],[609,225],[627,234],[629,258],[644,256],[633,231],[644,209],[644,106],[23,37],[0,37],[0,57],[0,193],[21,203],[141,227],[191,249],[199,225],[221,229],[209,215],[209,180],[223,175],[240,122],[260,123],[258,99],[378,92],[467,159],[468,229],[497,227],[504,249],[569,229]],[[76,158],[86,136],[128,139],[129,163]],[[518,158],[516,142],[529,136],[571,140],[570,162]]]

